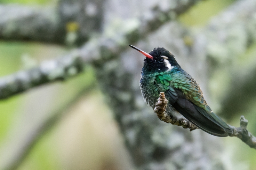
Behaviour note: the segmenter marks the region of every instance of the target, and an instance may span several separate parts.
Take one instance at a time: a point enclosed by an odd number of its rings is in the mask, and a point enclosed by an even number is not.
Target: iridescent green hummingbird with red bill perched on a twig
[[[154,48],[150,53],[129,45],[146,56],[140,76],[140,89],[145,102],[153,109],[164,92],[168,100],[166,112],[170,116],[186,118],[199,129],[218,137],[233,131],[207,105],[196,80],[184,71],[174,55],[165,48]]]

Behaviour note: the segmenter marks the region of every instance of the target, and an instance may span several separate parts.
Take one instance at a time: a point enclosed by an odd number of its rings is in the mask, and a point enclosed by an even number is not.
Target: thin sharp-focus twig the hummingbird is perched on
[[[184,118],[173,118],[165,112],[167,106],[167,99],[165,98],[164,92],[160,92],[160,97],[158,102],[156,103],[156,107],[154,112],[157,114],[158,118],[166,123],[171,123],[174,125],[182,126],[183,128],[188,128],[190,131],[198,129],[193,123],[191,123],[188,119]],[[236,128],[234,126],[230,126],[233,130],[232,134],[228,134],[230,137],[238,137],[245,144],[249,145],[251,148],[256,149],[256,137],[252,135],[252,133],[248,132],[246,129],[248,125],[248,120],[241,116],[240,118],[240,127]]]

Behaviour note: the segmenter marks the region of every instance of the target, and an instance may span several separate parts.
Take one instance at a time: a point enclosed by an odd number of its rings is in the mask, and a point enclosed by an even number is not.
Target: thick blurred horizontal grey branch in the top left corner
[[[63,43],[65,26],[51,8],[0,5],[0,39]]]

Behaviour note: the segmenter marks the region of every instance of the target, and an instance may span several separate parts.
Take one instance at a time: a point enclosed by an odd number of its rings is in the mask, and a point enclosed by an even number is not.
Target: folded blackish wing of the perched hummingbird
[[[228,133],[232,133],[230,127],[217,115],[196,106],[186,99],[182,91],[170,87],[165,93],[170,104],[198,128],[218,137],[227,137]]]

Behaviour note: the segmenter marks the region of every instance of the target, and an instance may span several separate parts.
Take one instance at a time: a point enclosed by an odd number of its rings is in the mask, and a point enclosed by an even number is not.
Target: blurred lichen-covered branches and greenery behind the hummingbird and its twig
[[[255,136],[256,0],[0,3],[0,169],[256,170],[241,140],[161,122],[128,46],[170,50]]]

